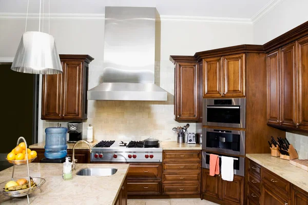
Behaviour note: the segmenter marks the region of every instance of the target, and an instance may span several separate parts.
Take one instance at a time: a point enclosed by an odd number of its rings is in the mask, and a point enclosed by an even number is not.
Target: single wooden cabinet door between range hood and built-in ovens
[[[199,120],[199,64],[176,63],[175,68],[175,120]]]

